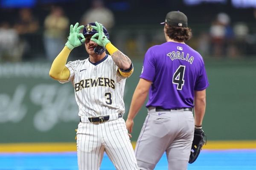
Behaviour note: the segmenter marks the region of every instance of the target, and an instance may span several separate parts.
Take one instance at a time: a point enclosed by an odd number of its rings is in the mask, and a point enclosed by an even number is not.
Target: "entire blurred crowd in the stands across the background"
[[[86,25],[98,21],[108,29],[110,35],[113,26],[116,25],[113,11],[108,9],[102,0],[92,0],[90,8],[84,11],[79,20],[70,20],[61,6],[52,5],[47,12],[45,18],[39,18],[32,9],[23,8],[19,9],[18,17],[13,22],[1,18],[1,62],[34,61],[36,59],[52,62],[67,42],[70,24],[79,22],[80,25]],[[252,15],[256,19],[256,10]],[[248,23],[234,23],[228,14],[221,12],[210,22],[208,28],[194,35],[192,40],[194,39],[196,43],[193,47],[203,57],[253,56],[256,55],[255,29],[255,26],[251,28]],[[148,35],[143,34],[143,31],[137,32],[137,38],[131,40],[130,37],[125,37],[124,32],[119,30],[119,35],[117,32],[113,34],[119,36],[117,40],[120,43],[116,43],[122,44],[119,48],[123,51],[127,50],[125,52],[128,55],[129,53],[143,55],[149,46],[165,41],[163,35],[154,35],[154,33],[151,34],[151,41],[148,41],[145,39]]]

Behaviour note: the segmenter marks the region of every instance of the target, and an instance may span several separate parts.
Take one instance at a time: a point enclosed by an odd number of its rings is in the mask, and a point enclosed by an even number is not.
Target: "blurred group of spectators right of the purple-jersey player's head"
[[[255,11],[256,19],[256,11]],[[211,22],[207,32],[198,37],[198,51],[201,55],[235,58],[243,55],[256,55],[256,33],[250,33],[247,23],[231,24],[226,13],[219,13]]]

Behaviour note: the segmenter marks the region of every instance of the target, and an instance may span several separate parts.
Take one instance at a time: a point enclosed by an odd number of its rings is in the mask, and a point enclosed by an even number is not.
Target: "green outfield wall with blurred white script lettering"
[[[133,63],[134,73],[126,81],[125,119],[143,60]],[[203,122],[207,140],[256,140],[256,59],[205,59],[205,64],[210,83]],[[75,141],[79,117],[73,86],[51,79],[50,66],[0,64],[0,143]],[[131,141],[137,140],[146,114],[144,104]]]

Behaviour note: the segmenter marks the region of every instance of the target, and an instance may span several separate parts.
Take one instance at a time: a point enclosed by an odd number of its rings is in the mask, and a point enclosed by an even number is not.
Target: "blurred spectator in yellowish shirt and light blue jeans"
[[[48,61],[53,61],[67,41],[69,19],[60,6],[53,6],[44,20],[44,47]]]

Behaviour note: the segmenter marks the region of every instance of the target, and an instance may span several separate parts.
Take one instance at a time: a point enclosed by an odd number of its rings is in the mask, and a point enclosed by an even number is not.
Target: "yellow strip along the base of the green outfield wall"
[[[136,141],[131,144],[135,149]],[[207,141],[203,149],[256,149],[256,141]],[[0,144],[0,153],[16,152],[70,152],[76,151],[76,142],[70,143],[17,143]]]

